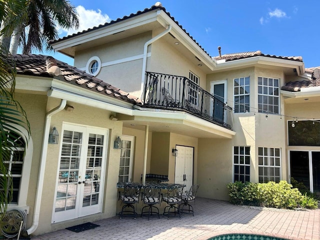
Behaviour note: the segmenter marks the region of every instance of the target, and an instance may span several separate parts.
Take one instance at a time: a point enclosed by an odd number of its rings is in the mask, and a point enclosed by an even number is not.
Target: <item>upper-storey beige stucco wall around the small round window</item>
[[[98,56],[101,65],[105,64],[96,75],[97,78],[140,97],[142,77],[142,56],[144,43],[151,38],[151,31],[128,38],[93,47],[85,51],[77,51],[74,66],[85,68],[92,56]]]

